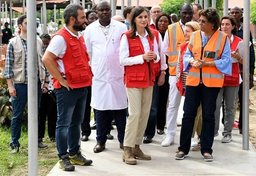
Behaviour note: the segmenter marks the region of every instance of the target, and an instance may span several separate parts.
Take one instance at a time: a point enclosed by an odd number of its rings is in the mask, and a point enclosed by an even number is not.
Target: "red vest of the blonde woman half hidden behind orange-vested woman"
[[[187,50],[188,43],[182,44],[180,47],[180,58],[179,58],[179,68],[180,68],[180,76],[178,81],[176,82],[176,87],[178,88],[180,95],[185,96],[185,89],[183,88],[183,82],[182,82],[182,73],[183,73],[183,57],[185,55],[185,52]]]

